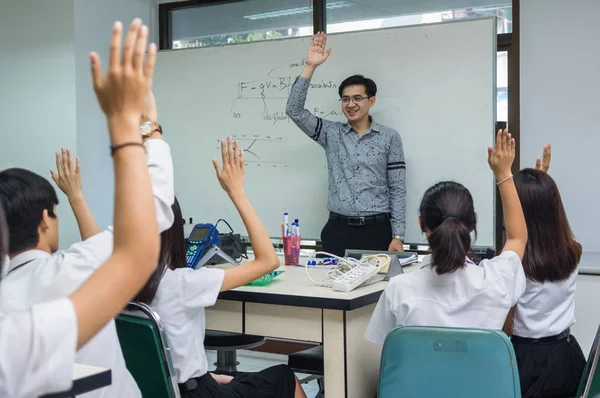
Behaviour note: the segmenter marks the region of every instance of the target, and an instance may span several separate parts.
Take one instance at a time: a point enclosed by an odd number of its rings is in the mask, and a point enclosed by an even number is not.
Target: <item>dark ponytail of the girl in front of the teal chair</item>
[[[447,217],[428,238],[432,267],[438,275],[448,274],[465,265],[471,248],[471,234],[457,217]]]

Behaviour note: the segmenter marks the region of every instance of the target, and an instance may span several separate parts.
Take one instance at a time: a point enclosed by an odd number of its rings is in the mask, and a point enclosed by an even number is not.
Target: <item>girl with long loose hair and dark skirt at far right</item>
[[[546,172],[550,146],[537,169],[515,175],[529,239],[523,257],[525,293],[514,311],[515,348],[523,397],[571,397],[585,356],[570,328],[575,324],[575,281],[581,258],[556,183]],[[508,331],[510,333],[510,330]]]

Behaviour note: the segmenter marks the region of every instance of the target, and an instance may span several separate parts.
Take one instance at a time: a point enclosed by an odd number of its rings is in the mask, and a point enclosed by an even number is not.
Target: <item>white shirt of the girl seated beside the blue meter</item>
[[[218,268],[167,269],[158,285],[151,307],[165,328],[178,383],[208,371],[204,308],[217,302],[223,277]]]

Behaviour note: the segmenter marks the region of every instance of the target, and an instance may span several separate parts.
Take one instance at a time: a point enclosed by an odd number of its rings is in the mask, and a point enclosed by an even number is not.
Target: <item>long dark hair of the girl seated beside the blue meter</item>
[[[134,301],[139,301],[150,305],[156,296],[158,285],[162,280],[167,268],[177,269],[187,267],[185,258],[186,245],[183,235],[183,215],[177,198],[171,206],[175,220],[171,228],[160,234],[160,255],[158,257],[158,268],[146,285],[135,296]]]

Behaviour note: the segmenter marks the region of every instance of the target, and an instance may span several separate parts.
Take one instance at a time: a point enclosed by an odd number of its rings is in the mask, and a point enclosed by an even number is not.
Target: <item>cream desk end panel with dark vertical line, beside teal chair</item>
[[[374,309],[375,304],[347,312],[323,310],[327,396],[376,396],[381,349],[365,340],[365,329]]]

